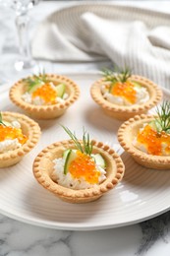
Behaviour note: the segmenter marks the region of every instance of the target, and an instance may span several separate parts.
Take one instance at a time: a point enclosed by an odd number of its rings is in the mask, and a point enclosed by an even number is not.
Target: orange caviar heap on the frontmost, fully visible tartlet
[[[69,166],[69,171],[74,178],[84,177],[90,184],[98,183],[100,172],[95,168],[95,162],[89,156],[78,152],[78,158],[73,160]]]

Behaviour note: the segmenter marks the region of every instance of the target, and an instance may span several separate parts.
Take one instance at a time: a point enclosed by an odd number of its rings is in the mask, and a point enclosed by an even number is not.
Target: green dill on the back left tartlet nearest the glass
[[[45,71],[43,70],[42,72],[39,72],[38,75],[33,75],[32,77],[29,77],[27,79],[24,79],[25,83],[28,86],[28,92],[36,85],[40,85],[43,83],[47,83],[47,77],[45,74]]]

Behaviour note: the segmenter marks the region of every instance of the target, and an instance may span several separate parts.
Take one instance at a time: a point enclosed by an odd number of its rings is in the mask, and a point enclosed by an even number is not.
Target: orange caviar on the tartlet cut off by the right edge
[[[165,151],[170,155],[170,134],[162,131],[157,133],[148,124],[138,134],[137,141],[144,144],[148,154],[162,156],[162,143],[166,143]]]

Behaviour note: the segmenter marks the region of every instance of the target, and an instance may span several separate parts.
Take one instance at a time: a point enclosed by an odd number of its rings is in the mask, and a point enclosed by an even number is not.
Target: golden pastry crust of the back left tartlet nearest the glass
[[[46,77],[54,84],[64,83],[66,85],[66,93],[69,96],[65,99],[65,102],[58,102],[51,105],[33,105],[26,102],[22,99],[22,96],[27,92],[27,86],[24,79],[14,84],[10,90],[9,96],[13,103],[25,110],[29,116],[37,119],[52,119],[61,116],[80,96],[79,87],[71,79],[53,74],[46,74]]]

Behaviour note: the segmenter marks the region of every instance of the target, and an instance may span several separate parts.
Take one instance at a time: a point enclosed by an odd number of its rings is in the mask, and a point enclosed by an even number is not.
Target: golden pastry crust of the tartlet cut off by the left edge
[[[8,151],[6,153],[0,154],[1,168],[14,165],[22,160],[22,158],[35,147],[40,137],[39,125],[30,118],[28,118],[28,116],[24,114],[6,111],[2,112],[2,118],[4,121],[8,122],[12,122],[14,120],[19,121],[23,134],[28,137],[28,141],[17,150]]]

